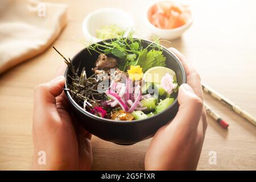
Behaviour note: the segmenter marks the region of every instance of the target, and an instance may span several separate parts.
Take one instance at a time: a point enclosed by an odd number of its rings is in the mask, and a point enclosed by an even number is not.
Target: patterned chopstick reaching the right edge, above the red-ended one
[[[210,94],[210,96],[212,96],[213,98],[216,98],[222,104],[229,107],[230,109],[235,111],[237,114],[241,115],[241,117],[247,119],[247,121],[250,121],[253,125],[256,126],[256,119],[251,114],[247,113],[247,111],[242,110],[239,106],[237,106],[232,101],[228,100],[227,98],[222,96],[220,93],[218,93],[215,90],[213,90],[212,88],[210,88],[208,85],[206,85],[202,82],[201,82],[201,85],[202,85],[204,92]]]

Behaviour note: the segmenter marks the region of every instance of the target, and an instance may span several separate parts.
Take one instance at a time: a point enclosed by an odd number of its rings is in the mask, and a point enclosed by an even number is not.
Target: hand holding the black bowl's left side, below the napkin
[[[58,75],[64,69],[59,69]],[[64,76],[58,76],[35,88],[33,170],[89,170],[92,167],[92,135],[69,112],[64,84]],[[46,154],[45,165],[38,163],[39,151]]]

